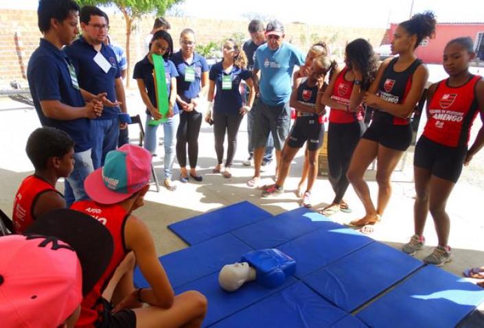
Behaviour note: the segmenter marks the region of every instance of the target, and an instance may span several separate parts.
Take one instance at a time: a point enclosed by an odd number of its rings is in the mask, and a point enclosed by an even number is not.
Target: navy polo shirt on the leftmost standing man
[[[27,80],[42,126],[67,132],[75,142],[74,152],[84,152],[91,148],[91,121],[87,118],[69,121],[50,119],[45,117],[41,107],[41,100],[59,100],[62,104],[73,107],[85,106],[80,91],[73,87],[68,62],[70,60],[63,51],[41,38],[40,45],[29,60]]]

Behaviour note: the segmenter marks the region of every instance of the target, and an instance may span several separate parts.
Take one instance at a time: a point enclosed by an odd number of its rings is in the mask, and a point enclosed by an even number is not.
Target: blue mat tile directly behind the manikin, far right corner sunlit
[[[341,227],[325,216],[299,207],[273,218],[249,224],[231,233],[254,249],[275,248],[285,242],[321,228]]]

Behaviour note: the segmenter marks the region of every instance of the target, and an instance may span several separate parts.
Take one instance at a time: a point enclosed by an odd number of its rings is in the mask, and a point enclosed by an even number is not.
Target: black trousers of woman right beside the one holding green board
[[[188,143],[188,161],[190,167],[196,167],[198,159],[198,134],[202,125],[202,113],[196,110],[180,113],[180,124],[176,131],[176,158],[180,167],[187,166],[187,143]]]

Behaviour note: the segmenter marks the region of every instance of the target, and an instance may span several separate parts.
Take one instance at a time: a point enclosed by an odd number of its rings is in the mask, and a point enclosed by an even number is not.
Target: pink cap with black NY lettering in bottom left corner
[[[82,269],[54,237],[0,237],[0,318],[9,328],[58,327],[82,301]]]

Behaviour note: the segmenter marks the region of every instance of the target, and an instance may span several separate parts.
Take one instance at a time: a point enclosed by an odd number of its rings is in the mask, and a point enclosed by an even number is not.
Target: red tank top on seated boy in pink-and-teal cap
[[[100,313],[102,312],[102,303],[100,303],[102,292],[106,288],[111,277],[121,261],[124,259],[128,250],[124,244],[124,225],[128,218],[128,212],[117,204],[103,205],[97,204],[91,200],[81,200],[72,204],[71,209],[84,212],[91,215],[97,221],[106,226],[108,231],[113,236],[114,250],[113,257],[108,264],[108,267],[102,274],[102,277],[91,292],[84,296],[81,303],[81,314],[76,323],[76,327],[93,327],[93,323],[100,320]]]

